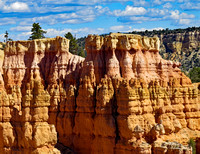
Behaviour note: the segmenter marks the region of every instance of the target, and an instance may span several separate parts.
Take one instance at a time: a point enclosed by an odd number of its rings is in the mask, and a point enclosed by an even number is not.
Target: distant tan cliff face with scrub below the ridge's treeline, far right
[[[160,35],[163,58],[179,61],[182,70],[200,67],[200,31]]]

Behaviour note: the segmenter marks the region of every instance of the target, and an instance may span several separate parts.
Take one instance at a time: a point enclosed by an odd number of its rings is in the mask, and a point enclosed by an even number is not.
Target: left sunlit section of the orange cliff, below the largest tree
[[[59,153],[56,127],[49,123],[55,102],[47,89],[59,79],[76,84],[83,59],[68,47],[69,40],[60,37],[7,43],[0,78],[0,151]]]

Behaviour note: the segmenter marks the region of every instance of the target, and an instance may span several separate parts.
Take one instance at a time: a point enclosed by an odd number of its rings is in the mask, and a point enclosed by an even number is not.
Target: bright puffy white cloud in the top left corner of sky
[[[30,9],[26,3],[14,2],[10,5],[4,5],[3,11],[5,12],[29,12]]]

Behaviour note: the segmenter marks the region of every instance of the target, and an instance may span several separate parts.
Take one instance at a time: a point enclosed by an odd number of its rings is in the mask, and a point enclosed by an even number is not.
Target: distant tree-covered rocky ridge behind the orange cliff
[[[193,67],[200,67],[200,30],[177,29],[145,32],[130,32],[142,36],[157,36],[160,39],[160,55],[162,58],[181,63],[181,70],[189,72]],[[78,39],[83,47],[85,38]]]

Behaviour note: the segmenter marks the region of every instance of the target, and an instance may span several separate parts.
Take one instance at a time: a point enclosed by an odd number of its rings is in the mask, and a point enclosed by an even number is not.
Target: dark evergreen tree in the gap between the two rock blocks
[[[72,54],[78,54],[78,44],[77,44],[77,40],[75,37],[73,37],[73,35],[68,32],[67,34],[65,34],[65,38],[70,40],[69,43],[69,52],[71,52]]]

